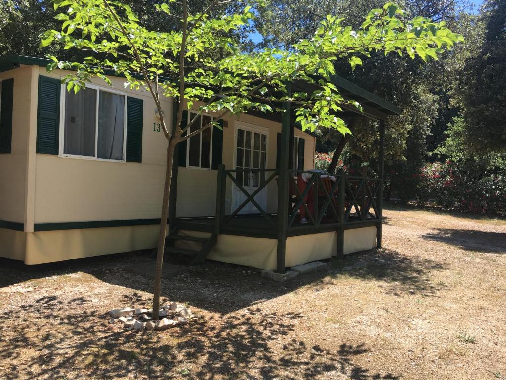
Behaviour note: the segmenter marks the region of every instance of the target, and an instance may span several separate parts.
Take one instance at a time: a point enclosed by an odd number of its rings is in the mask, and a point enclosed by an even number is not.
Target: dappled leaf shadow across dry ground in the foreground
[[[25,378],[314,379],[332,374],[354,380],[397,379],[359,364],[365,344],[329,351],[291,339],[282,352],[271,341],[293,331],[296,313],[249,308],[200,324],[163,332],[131,332],[90,310],[86,299],[46,296],[21,305],[23,313],[0,340],[0,370],[6,380]],[[4,321],[12,319],[4,313]]]

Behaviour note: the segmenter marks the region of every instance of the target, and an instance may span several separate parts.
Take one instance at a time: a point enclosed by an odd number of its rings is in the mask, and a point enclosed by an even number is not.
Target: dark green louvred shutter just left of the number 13
[[[128,97],[126,108],[126,161],[142,162],[144,101]]]

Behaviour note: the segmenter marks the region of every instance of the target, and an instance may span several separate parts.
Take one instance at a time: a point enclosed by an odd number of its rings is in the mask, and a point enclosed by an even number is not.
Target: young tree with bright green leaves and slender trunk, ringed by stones
[[[48,65],[49,71],[72,70],[63,79],[68,91],[86,88],[94,77],[110,84],[106,72],[113,70],[124,75],[126,86],[147,89],[158,109],[167,139],[167,158],[153,287],[155,320],[158,319],[174,149],[181,141],[216,124],[210,122],[189,132],[202,112],[215,112],[215,120],[219,120],[248,109],[282,112],[268,104],[290,102],[296,104],[297,121],[303,130],[321,126],[346,135],[350,130],[334,114],[344,104],[361,107],[345,100],[330,82],[336,57],[348,58],[352,67],[361,64],[360,56],[369,56],[374,50],[425,60],[437,58],[443,49],[449,49],[461,39],[443,23],[433,23],[423,17],[403,20],[402,10],[389,3],[383,9],[372,10],[357,30],[342,25],[337,17],[327,16],[311,40],[301,40],[290,51],[266,49],[246,54],[226,34],[251,20],[250,7],[246,6],[240,14],[210,16],[215,7],[225,3],[230,2],[210,1],[202,12],[195,14],[189,13],[187,0],[155,4],[159,12],[167,15],[173,15],[173,6],[180,8],[180,13],[173,16],[181,22],[178,30],[155,32],[147,30],[132,9],[118,1],[54,0],[55,10],[66,8],[65,13],[56,16],[62,21],[62,27],[42,36],[43,47],[56,43],[64,49],[91,54],[82,62],[62,62],[50,57],[54,62]],[[209,50],[221,51],[224,58],[206,57],[205,52]],[[317,84],[318,90],[291,94],[287,83],[294,80]],[[162,113],[161,97],[174,98],[181,105],[172,130]],[[182,105],[186,102],[191,108],[197,101],[203,103],[198,107],[198,115],[188,125],[182,125]]]

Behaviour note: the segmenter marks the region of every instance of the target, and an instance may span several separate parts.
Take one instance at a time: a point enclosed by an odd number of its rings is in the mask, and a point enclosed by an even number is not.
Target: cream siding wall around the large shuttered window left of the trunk
[[[39,74],[60,78],[63,71]],[[159,218],[165,175],[167,140],[153,130],[155,104],[147,91],[124,89],[122,78],[113,88],[144,100],[142,163],[107,162],[37,155],[35,223]],[[104,87],[103,81],[94,83]],[[172,100],[163,112],[172,128]]]

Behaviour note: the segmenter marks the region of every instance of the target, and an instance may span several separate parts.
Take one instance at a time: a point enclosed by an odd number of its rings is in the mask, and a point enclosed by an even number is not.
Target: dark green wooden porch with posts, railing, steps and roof
[[[334,248],[332,249],[335,249],[335,253],[332,252],[332,255],[343,257],[346,250],[345,231],[362,227],[375,227],[375,246],[381,248],[385,121],[388,115],[398,115],[400,109],[346,80],[333,78],[332,81],[340,88],[346,99],[352,99],[362,104],[361,110],[351,106],[344,107],[338,116],[370,118],[377,121],[379,141],[377,145],[377,167],[374,168],[374,171],[378,177],[349,176],[344,173],[329,175],[328,173],[293,169],[293,141],[296,124],[294,123],[296,117],[293,105],[288,102],[279,104],[278,108],[284,109],[281,115],[252,111],[251,114],[254,116],[275,120],[281,124],[277,168],[227,169],[224,165],[220,165],[218,168],[215,215],[178,219],[176,218],[178,165],[175,163],[173,181],[176,186],[173,185],[171,189],[169,213],[169,223],[174,227],[167,237],[168,252],[193,256],[193,262],[197,263],[207,257],[207,254],[217,244],[220,235],[273,239],[277,241],[274,246],[275,268],[277,272],[284,273],[287,264],[286,246],[288,238],[293,242],[296,237],[335,233],[332,235],[334,237]],[[304,83],[291,83],[288,85],[291,86],[292,91],[308,91],[317,87]],[[177,106],[175,104],[175,107]],[[175,160],[177,160],[177,153]],[[248,172],[249,178],[255,178],[257,187],[251,193],[248,192],[245,188],[247,186],[244,186],[245,183],[241,180],[244,172]],[[330,180],[329,177],[331,177]],[[302,183],[301,179],[305,183]],[[236,203],[233,207],[227,209],[227,191],[229,191],[227,189],[230,188],[236,189],[242,198],[240,198],[239,204]],[[271,197],[273,196],[272,192],[276,192],[277,203],[275,210],[272,207],[267,209],[258,202],[257,196],[262,191],[267,190],[271,192]],[[230,198],[230,194],[228,196]],[[254,215],[240,214],[246,205],[250,209],[249,212],[254,206]],[[181,230],[207,233],[208,237],[178,236],[178,231]],[[362,231],[365,231],[365,229]],[[335,236],[337,236],[336,245]],[[174,244],[171,246],[174,241],[181,240],[199,242],[202,244],[202,248],[200,251],[195,252],[176,248]],[[308,243],[304,244],[307,245]],[[244,247],[238,244],[234,249],[239,252],[242,248]],[[297,248],[310,249],[311,247]],[[367,249],[370,248],[371,245]]]

